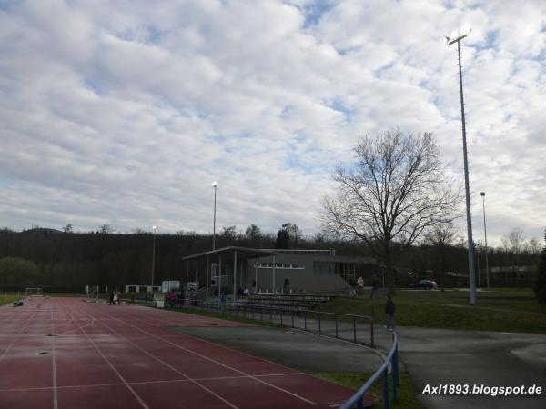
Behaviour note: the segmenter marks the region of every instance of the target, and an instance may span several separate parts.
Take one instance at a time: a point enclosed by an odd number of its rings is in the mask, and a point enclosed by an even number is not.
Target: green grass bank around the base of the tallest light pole
[[[477,303],[470,305],[468,291],[398,290],[395,324],[427,328],[449,328],[501,332],[546,334],[546,305],[537,304],[528,289],[491,289],[478,292]],[[385,297],[369,299],[338,296],[322,304],[320,311],[374,316],[386,322]]]

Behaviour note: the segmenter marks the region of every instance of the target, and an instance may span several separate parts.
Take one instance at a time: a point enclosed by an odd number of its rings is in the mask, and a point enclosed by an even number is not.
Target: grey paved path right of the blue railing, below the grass
[[[399,352],[420,403],[427,409],[546,407],[546,334],[398,327]],[[376,330],[376,343],[388,348],[390,334]],[[540,395],[422,394],[426,385],[541,386]]]

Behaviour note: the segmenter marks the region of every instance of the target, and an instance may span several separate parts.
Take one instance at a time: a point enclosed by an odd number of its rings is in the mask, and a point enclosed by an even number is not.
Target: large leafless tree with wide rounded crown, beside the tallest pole
[[[434,137],[399,130],[366,136],[354,148],[357,163],[338,166],[337,195],[324,199],[323,227],[363,241],[387,267],[394,292],[392,244],[412,244],[434,224],[451,222],[461,189],[446,177]]]

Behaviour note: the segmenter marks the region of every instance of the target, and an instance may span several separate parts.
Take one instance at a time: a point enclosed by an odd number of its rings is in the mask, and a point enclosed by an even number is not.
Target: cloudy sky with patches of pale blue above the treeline
[[[474,239],[546,226],[542,0],[0,0],[0,227],[320,230],[364,135],[433,132]],[[461,203],[464,208],[464,203]],[[466,221],[459,222],[465,235]]]

